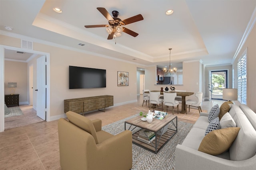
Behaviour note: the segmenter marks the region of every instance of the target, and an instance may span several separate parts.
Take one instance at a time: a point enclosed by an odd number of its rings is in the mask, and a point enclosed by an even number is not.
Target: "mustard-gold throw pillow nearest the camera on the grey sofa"
[[[230,148],[239,130],[240,127],[228,127],[211,131],[204,137],[198,150],[211,155],[221,154]]]

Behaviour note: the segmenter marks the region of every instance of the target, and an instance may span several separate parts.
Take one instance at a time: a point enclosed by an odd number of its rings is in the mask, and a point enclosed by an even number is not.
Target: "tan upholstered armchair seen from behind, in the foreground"
[[[60,118],[58,135],[63,170],[128,170],[132,168],[132,132],[112,135],[102,131],[100,119],[72,111]]]

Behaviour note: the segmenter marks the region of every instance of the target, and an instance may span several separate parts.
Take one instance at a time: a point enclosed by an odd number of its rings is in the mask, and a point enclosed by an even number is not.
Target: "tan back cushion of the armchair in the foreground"
[[[84,117],[78,113],[75,113],[73,111],[68,111],[66,113],[66,115],[68,117],[68,121],[70,121],[74,125],[80,127],[84,131],[90,133],[94,137],[95,143],[98,144],[96,130],[95,130],[94,125],[92,124],[92,121],[90,119],[88,119],[87,117]]]

